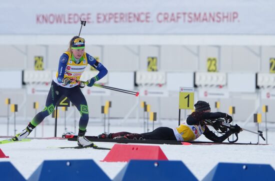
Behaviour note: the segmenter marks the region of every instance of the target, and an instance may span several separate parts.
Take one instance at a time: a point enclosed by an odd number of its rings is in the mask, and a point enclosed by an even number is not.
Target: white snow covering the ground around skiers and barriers
[[[162,126],[173,127],[177,123],[174,121],[162,122]],[[241,123],[239,123],[241,125]],[[1,123],[0,135],[6,135],[6,124]],[[23,129],[26,124],[16,125],[18,129]],[[269,126],[269,125],[268,125]],[[270,164],[275,168],[275,131],[270,124],[268,131],[268,145],[159,145],[169,160],[182,160],[190,169],[196,178],[201,180],[218,162],[236,162],[236,163],[264,163]],[[37,128],[37,136],[41,134],[41,126]],[[246,125],[247,129],[255,131],[253,123]],[[10,132],[12,126],[10,126]],[[262,128],[261,128],[262,129]],[[44,137],[53,136],[53,125],[44,125]],[[62,125],[58,125],[57,136],[61,136]],[[68,125],[68,130],[73,130]],[[91,125],[87,127],[86,135],[97,135],[103,132],[103,126]],[[141,125],[121,126],[112,125],[110,132],[129,131],[143,132]],[[31,137],[34,136],[32,132]],[[265,136],[265,132],[264,132]],[[4,138],[0,138],[4,139]],[[202,135],[198,138],[201,141],[207,141]],[[242,131],[239,134],[237,142],[257,142],[256,134]],[[227,140],[225,141],[227,142]],[[260,138],[260,143],[265,143]],[[115,143],[96,142],[98,146],[112,147]],[[19,172],[27,179],[43,160],[49,159],[93,159],[99,167],[112,179],[122,169],[126,162],[102,162],[108,153],[108,150],[98,149],[59,149],[56,146],[76,146],[75,141],[52,140],[52,139],[32,139],[29,142],[17,142],[1,144],[0,148],[9,158],[0,158],[0,161],[10,161]]]

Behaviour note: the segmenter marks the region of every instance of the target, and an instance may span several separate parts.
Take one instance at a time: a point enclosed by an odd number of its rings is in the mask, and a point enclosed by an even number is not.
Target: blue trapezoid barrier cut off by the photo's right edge
[[[275,180],[275,171],[269,164],[221,162],[202,180]]]

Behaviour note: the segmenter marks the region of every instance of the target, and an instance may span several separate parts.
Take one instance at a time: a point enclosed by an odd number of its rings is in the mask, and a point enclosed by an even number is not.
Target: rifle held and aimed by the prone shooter
[[[224,118],[216,118],[214,120],[205,119],[204,122],[207,125],[211,125],[212,127],[214,127],[214,129],[219,133],[225,133],[228,129],[230,130],[230,129],[236,128],[235,125],[228,123],[227,120],[225,120]],[[258,134],[263,140],[265,140],[265,138],[262,135],[262,131],[260,130],[258,130],[257,132],[254,132],[245,128],[240,128],[240,131],[242,130],[249,131],[254,134]],[[235,135],[236,135],[236,139],[233,141],[230,141],[229,138],[227,138],[228,142],[236,142],[238,140],[238,133],[235,133]]]

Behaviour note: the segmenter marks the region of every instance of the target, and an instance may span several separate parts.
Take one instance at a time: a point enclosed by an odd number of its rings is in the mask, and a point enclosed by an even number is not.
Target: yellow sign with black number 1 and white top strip
[[[179,108],[193,109],[194,108],[194,88],[179,87]]]

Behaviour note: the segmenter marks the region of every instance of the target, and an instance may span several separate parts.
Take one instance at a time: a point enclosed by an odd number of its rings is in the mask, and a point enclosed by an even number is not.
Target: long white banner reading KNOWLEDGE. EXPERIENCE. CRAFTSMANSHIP
[[[23,4],[23,5],[22,5]],[[274,0],[6,0],[0,34],[274,34]]]

